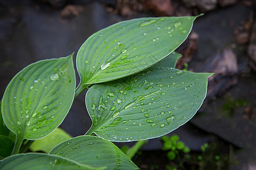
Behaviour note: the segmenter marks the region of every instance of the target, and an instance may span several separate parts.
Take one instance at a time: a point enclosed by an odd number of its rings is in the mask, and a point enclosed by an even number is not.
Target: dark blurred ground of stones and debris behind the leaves
[[[183,54],[178,69],[216,73],[196,116],[168,134],[189,152],[168,148],[168,138],[152,139],[133,161],[141,169],[256,169],[255,6],[253,0],[0,0],[0,95],[32,62],[72,52],[75,61],[82,42],[111,24],[204,13],[176,50]],[[85,92],[61,124],[73,137],[92,124],[84,98]],[[115,144],[125,151],[134,142]]]

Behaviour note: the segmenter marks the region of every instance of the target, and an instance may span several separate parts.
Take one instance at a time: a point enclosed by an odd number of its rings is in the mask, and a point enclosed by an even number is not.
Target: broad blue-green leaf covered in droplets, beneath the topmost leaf
[[[95,84],[85,97],[93,121],[86,134],[127,142],[170,133],[201,107],[210,75],[153,67],[135,76]]]

